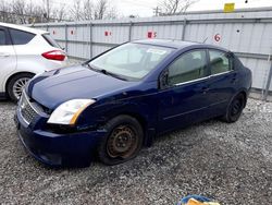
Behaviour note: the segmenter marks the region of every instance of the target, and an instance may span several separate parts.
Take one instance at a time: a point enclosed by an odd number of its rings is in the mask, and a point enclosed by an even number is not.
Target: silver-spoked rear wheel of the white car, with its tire
[[[8,94],[13,101],[17,101],[26,83],[34,76],[30,73],[21,73],[13,76],[8,84]]]

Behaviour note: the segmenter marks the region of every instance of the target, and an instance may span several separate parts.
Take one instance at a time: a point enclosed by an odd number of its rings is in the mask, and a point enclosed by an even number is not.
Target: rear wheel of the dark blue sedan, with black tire
[[[221,119],[227,123],[236,122],[239,119],[245,106],[245,95],[243,93],[239,93],[238,95],[233,97],[227,106],[226,113]]]

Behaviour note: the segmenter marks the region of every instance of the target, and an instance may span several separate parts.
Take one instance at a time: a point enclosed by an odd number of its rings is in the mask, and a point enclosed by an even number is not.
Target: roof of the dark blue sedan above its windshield
[[[196,43],[196,41],[176,40],[176,39],[140,39],[140,40],[134,40],[132,43],[161,46],[161,47],[174,48],[178,50],[183,48],[191,47],[191,48],[213,48],[213,49],[219,49],[219,50],[226,51],[226,52],[228,51],[227,49],[213,46],[213,45],[207,45],[207,44]]]

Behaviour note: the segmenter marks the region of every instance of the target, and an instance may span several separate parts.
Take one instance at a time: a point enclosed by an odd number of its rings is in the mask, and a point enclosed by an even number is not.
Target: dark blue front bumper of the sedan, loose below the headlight
[[[14,120],[22,144],[30,155],[49,166],[89,166],[99,141],[106,134],[102,130],[69,134],[32,130],[18,110]]]

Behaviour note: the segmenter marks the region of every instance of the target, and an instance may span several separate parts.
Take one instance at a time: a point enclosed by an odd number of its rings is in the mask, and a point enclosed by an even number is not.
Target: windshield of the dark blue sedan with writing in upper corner
[[[151,45],[125,44],[90,61],[89,65],[103,73],[137,81],[152,71],[172,50]]]

